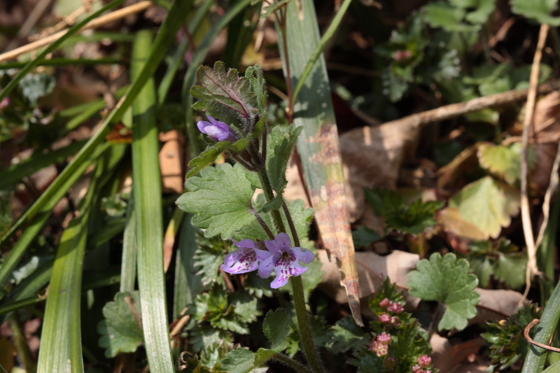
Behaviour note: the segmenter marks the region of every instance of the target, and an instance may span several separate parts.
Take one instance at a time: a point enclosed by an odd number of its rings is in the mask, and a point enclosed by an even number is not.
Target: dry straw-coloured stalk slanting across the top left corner
[[[111,12],[109,14],[102,15],[101,17],[92,20],[92,22],[86,24],[83,27],[83,29],[81,29],[80,31],[84,31],[87,29],[95,29],[97,27],[104,26],[105,24],[111,23],[116,20],[120,20],[126,17],[127,15],[139,13],[142,10],[146,10],[150,8],[151,6],[153,6],[152,1],[140,1],[139,3],[135,3],[131,6],[127,6],[126,8],[115,10],[114,12]],[[45,38],[41,38],[40,40],[34,41],[33,43],[23,45],[20,48],[15,48],[13,50],[9,50],[6,53],[2,53],[0,55],[0,62],[8,61],[8,59],[13,59],[24,53],[31,52],[32,50],[36,50],[38,48],[44,47],[45,45],[52,44],[55,41],[57,41],[59,38],[64,36],[66,32],[68,32],[68,30],[57,32],[56,34],[52,34]]]

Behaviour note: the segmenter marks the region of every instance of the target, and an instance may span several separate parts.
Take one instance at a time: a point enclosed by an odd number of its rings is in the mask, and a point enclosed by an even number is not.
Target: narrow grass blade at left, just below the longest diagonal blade
[[[53,190],[50,200],[45,202],[45,204],[41,206],[40,211],[38,211],[37,215],[34,217],[31,225],[29,225],[27,229],[23,231],[22,236],[15,243],[15,246],[6,257],[6,260],[4,260],[4,262],[2,263],[2,266],[0,267],[0,288],[8,283],[13,270],[18,266],[18,263],[25,254],[25,251],[27,251],[27,248],[29,248],[29,244],[31,244],[37,234],[41,232],[43,225],[45,225],[52,209],[55,208],[57,202],[62,199],[62,197],[64,197],[64,195],[66,194],[66,191],[68,191],[70,187],[74,183],[76,183],[76,181],[78,181],[78,178],[80,178],[87,167],[90,166],[92,160],[97,158],[99,154],[101,154],[104,150],[106,150],[106,148],[108,148],[108,146],[109,144],[98,146],[97,150],[92,155],[90,160],[81,163],[79,167],[76,168],[76,171],[74,171],[73,174],[69,175],[69,178],[66,178],[64,183],[61,183],[59,185],[59,188]]]

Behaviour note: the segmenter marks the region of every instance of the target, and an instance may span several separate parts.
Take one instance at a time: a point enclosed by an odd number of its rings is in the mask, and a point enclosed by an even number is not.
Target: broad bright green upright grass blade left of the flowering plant
[[[146,63],[152,34],[139,31],[132,55],[135,75]],[[160,180],[157,99],[153,79],[132,104],[132,171],[137,216],[138,286],[146,355],[152,372],[174,372],[163,271],[163,216]]]

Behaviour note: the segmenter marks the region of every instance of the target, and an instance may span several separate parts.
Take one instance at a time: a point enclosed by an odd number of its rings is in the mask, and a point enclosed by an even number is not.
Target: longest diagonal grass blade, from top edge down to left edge
[[[117,2],[122,2],[122,0],[117,0]],[[148,61],[144,65],[141,73],[138,74],[132,85],[127,89],[125,96],[121,101],[119,101],[116,108],[111,111],[111,113],[105,118],[102,122],[102,125],[99,126],[97,132],[92,136],[92,138],[87,141],[85,146],[80,150],[78,155],[73,158],[72,162],[68,164],[68,166],[62,171],[61,174],[56,178],[55,181],[45,190],[43,195],[37,199],[37,201],[31,206],[23,216],[10,228],[6,234],[0,239],[0,246],[6,243],[6,241],[15,234],[18,230],[20,230],[25,224],[29,222],[36,214],[41,210],[43,205],[49,202],[52,199],[52,195],[61,188],[62,184],[73,174],[73,172],[80,167],[80,164],[85,162],[87,157],[93,152],[94,148],[104,141],[106,134],[109,133],[111,130],[111,124],[114,124],[123,117],[123,114],[130,107],[134,99],[136,99],[137,95],[139,94],[148,78],[153,76],[155,69],[158,68],[158,65],[162,61],[163,57],[165,57],[165,53],[169,48],[169,45],[174,40],[174,35],[176,34],[177,29],[181,27],[181,22],[183,21],[183,17],[186,14],[186,10],[190,7],[190,3],[192,1],[174,1],[171,11],[169,12],[169,16],[166,18],[165,22],[160,27],[160,31],[158,36],[153,43],[153,47],[150,53],[150,57],[148,57]],[[113,4],[113,3],[111,3]],[[109,5],[111,5],[109,4]],[[97,14],[97,13],[96,13]],[[72,28],[73,29],[73,28]],[[18,75],[19,76],[19,75]],[[1,94],[6,92],[3,90]],[[1,95],[0,94],[0,95]],[[55,202],[56,203],[56,202]]]

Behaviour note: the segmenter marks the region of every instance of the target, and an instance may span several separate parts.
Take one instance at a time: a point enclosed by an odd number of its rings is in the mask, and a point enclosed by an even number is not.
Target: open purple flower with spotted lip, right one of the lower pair
[[[274,241],[265,241],[265,245],[272,255],[260,263],[258,275],[267,279],[274,270],[276,279],[270,283],[273,289],[286,285],[290,276],[300,276],[307,271],[307,267],[303,267],[300,260],[309,264],[315,259],[315,255],[307,248],[292,247],[290,237],[286,233],[278,234]]]

